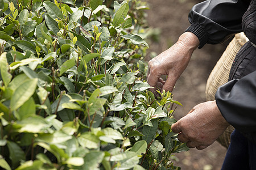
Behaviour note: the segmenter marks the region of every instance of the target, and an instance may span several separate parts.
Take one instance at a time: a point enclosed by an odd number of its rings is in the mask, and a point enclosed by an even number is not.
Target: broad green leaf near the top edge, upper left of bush
[[[43,2],[43,6],[46,8],[47,13],[51,16],[52,19],[63,19],[64,16],[55,3],[51,1]]]

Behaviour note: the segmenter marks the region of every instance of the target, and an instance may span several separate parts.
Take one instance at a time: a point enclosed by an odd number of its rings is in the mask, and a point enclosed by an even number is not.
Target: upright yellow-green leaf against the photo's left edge
[[[6,53],[2,53],[0,56],[0,71],[3,83],[5,84],[5,87],[8,86],[8,84],[11,81],[11,74],[9,73],[8,63],[6,59]]]

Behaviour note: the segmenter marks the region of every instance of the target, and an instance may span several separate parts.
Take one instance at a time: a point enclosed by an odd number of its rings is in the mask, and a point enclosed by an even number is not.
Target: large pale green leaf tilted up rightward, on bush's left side
[[[24,81],[16,90],[11,97],[10,107],[14,111],[22,106],[30,97],[34,94],[38,79],[29,79]]]

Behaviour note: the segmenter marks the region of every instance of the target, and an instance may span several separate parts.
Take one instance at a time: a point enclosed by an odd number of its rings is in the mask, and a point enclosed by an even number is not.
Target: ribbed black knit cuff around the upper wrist
[[[202,48],[205,44],[207,44],[208,33],[199,23],[192,23],[185,32],[192,32],[197,36],[200,41],[199,48]]]

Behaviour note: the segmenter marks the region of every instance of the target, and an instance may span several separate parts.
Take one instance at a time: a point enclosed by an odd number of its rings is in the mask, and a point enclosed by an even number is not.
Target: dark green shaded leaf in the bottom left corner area
[[[12,168],[18,167],[19,163],[23,160],[26,160],[25,154],[22,149],[14,142],[7,141],[7,146],[9,149],[9,158],[13,164]]]

